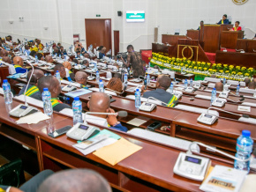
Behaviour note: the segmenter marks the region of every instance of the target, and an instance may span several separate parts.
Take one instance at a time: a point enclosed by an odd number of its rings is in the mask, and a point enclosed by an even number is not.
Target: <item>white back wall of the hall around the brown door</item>
[[[140,10],[146,12],[144,23],[125,21],[125,11]],[[117,17],[117,11],[123,11],[123,16]],[[174,33],[179,28],[185,34],[186,29],[198,28],[200,20],[215,23],[223,14],[232,16],[232,23],[239,20],[256,31],[255,0],[244,5],[231,0],[0,0],[0,36],[62,41],[67,48],[72,44],[72,35],[79,33],[87,46],[85,18],[96,18],[96,14],[111,18],[112,31],[120,31],[120,51],[125,51],[128,44],[136,50],[151,48],[156,26],[161,41],[162,33]],[[24,17],[24,22],[19,22],[19,17]],[[49,29],[44,30],[44,26]]]

